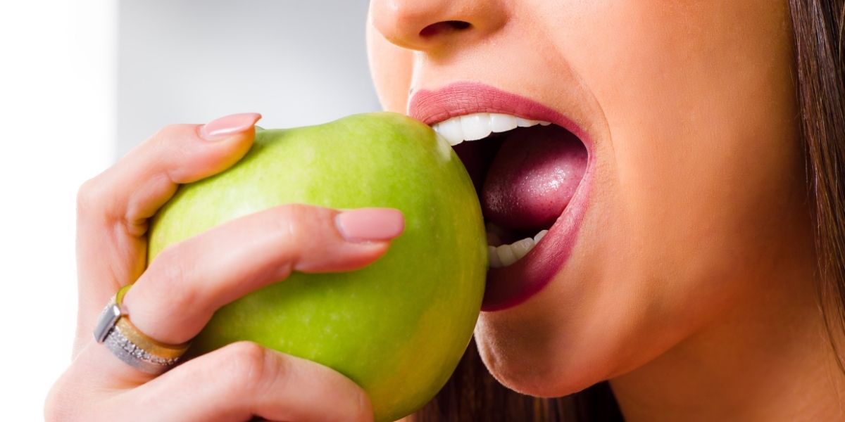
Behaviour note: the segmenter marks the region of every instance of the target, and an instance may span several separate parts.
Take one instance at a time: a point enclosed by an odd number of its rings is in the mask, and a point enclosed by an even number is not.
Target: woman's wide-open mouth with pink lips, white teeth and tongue
[[[488,232],[482,311],[535,295],[570,257],[585,214],[586,133],[534,100],[472,82],[418,91],[409,114],[452,145],[475,185]]]

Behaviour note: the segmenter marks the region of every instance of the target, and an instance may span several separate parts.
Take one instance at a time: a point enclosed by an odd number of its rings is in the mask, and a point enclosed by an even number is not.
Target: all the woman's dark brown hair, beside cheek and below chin
[[[789,0],[795,89],[807,155],[807,183],[815,198],[818,291],[831,345],[845,334],[845,0]],[[532,398],[499,385],[470,344],[438,396],[417,412],[418,422],[624,420],[607,382],[564,398]]]

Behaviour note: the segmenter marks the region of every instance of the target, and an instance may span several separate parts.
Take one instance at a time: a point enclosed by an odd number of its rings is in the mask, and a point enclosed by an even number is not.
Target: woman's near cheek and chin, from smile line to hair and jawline
[[[570,13],[579,19],[554,19],[567,22],[556,50],[608,124],[591,210],[555,281],[482,315],[477,331],[494,375],[541,395],[654,359],[755,300],[807,240],[785,8],[632,1]]]

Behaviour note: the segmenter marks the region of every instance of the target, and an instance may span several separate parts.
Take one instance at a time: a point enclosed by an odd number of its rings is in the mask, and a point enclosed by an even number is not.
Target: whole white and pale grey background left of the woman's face
[[[366,6],[0,3],[0,419],[42,419],[70,363],[79,184],[166,123],[259,111],[286,127],[377,109]]]

